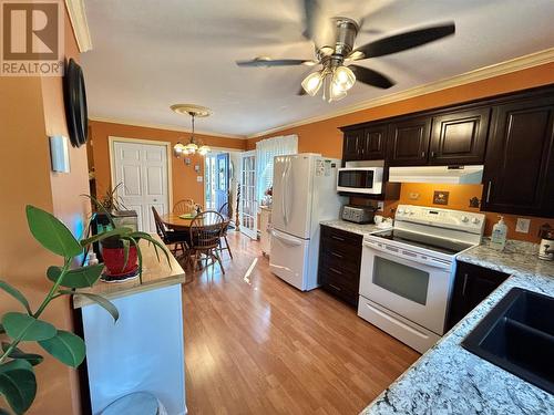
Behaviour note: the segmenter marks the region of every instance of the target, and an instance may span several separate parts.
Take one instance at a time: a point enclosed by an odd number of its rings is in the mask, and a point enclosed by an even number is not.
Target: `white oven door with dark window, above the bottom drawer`
[[[360,295],[442,335],[452,263],[363,241]]]

